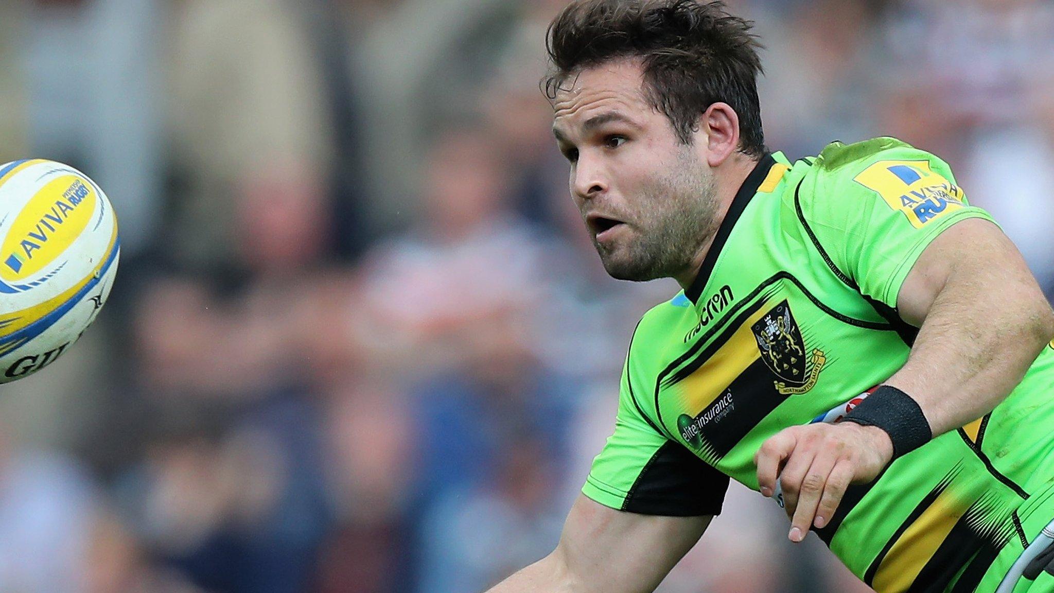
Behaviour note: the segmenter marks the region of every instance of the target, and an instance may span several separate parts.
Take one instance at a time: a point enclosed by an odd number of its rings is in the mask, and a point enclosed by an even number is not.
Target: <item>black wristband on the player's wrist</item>
[[[877,426],[893,441],[893,459],[909,454],[933,439],[933,429],[922,408],[911,396],[890,385],[875,389],[853,408],[842,422]]]

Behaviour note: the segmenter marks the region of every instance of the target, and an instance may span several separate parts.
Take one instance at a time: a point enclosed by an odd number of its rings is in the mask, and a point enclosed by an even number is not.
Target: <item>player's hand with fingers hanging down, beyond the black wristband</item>
[[[874,480],[893,459],[893,441],[875,426],[854,422],[790,426],[766,440],[754,456],[758,489],[773,496],[779,480],[790,541],[809,525],[831,520],[850,484]]]

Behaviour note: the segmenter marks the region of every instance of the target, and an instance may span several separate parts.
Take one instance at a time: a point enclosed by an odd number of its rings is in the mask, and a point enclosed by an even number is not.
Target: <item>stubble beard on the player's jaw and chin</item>
[[[668,174],[645,188],[639,204],[630,241],[606,247],[593,240],[607,273],[618,280],[647,282],[689,269],[715,231],[714,174],[685,148]]]

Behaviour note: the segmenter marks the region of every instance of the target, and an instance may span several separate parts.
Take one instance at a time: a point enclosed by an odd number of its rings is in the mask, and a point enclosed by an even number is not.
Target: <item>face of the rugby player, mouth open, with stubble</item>
[[[553,133],[570,188],[604,268],[619,280],[691,269],[713,232],[714,175],[697,141],[682,144],[643,94],[636,60],[584,70],[553,103]]]

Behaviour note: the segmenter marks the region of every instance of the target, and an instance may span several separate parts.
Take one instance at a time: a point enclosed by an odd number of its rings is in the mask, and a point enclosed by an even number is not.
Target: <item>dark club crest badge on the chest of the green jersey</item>
[[[820,349],[806,353],[805,341],[786,301],[776,305],[750,329],[761,360],[778,378],[775,385],[780,394],[800,395],[816,385],[826,357]]]

